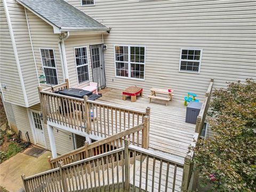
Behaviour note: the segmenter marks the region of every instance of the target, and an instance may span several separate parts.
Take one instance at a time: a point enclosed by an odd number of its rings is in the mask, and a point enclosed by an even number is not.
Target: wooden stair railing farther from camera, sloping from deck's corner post
[[[82,159],[106,153],[107,151],[114,150],[124,146],[124,140],[126,138],[131,139],[132,145],[148,149],[149,145],[149,118],[144,117],[143,124],[137,125],[120,133],[111,135],[105,139],[88,144],[85,142],[85,146],[71,151],[70,153],[63,154],[56,158],[50,159],[49,163],[51,169],[59,166],[59,162],[63,164],[69,164]]]

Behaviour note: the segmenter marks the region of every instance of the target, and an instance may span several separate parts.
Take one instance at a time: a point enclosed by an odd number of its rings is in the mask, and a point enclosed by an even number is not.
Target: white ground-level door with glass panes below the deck
[[[38,143],[41,146],[45,146],[43,124],[41,118],[39,117],[39,113],[31,111],[31,117],[33,122],[33,128],[35,131],[36,143]]]

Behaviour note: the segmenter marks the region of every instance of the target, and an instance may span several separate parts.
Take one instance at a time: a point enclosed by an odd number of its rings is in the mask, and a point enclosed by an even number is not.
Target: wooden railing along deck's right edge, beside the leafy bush
[[[191,146],[193,147],[196,146],[196,142],[199,139],[204,126],[205,118],[210,105],[212,86],[213,86],[213,79],[211,79],[209,87],[205,93],[203,105],[196,119],[195,134],[194,134],[193,141],[191,142]],[[193,151],[190,151],[190,153],[188,153],[187,156],[185,157],[183,177],[182,177],[182,191],[187,191],[188,189],[195,189],[195,185],[197,181],[197,173],[195,172],[193,173],[193,167],[196,166],[195,164],[191,163],[193,156],[194,156]]]

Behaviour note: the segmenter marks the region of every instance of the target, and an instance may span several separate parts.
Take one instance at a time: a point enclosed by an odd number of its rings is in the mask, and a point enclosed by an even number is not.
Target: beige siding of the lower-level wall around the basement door
[[[37,113],[39,113],[39,111],[41,110],[40,105],[39,104],[34,105],[29,108],[21,107],[18,105],[12,105],[12,108],[13,108],[13,113],[15,116],[15,121],[17,123],[17,128],[18,128],[18,130],[20,130],[22,132],[22,139],[27,141],[25,134],[28,131],[31,143],[35,144],[35,141],[33,139],[33,133],[32,133],[33,130],[31,129],[31,126],[30,126],[27,109],[34,110]],[[47,131],[46,124],[43,124],[43,131],[44,131],[44,136],[45,136],[46,149],[51,150],[49,134]],[[63,131],[63,130],[61,130],[61,131],[65,132],[66,134],[62,133],[60,131],[57,132],[57,130],[54,129],[55,145],[56,145],[57,153],[59,155],[65,154],[65,153],[70,152],[71,150],[74,150],[72,133]],[[71,140],[69,139],[69,135],[67,135],[67,134],[71,135]]]

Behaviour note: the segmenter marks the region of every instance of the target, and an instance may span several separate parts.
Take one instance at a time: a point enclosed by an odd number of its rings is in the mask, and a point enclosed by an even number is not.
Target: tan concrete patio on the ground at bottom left
[[[17,192],[23,187],[21,174],[30,176],[50,169],[47,156],[51,156],[50,151],[45,151],[38,158],[24,153],[11,157],[0,164],[0,185],[10,192]]]

